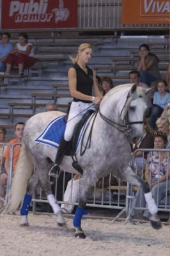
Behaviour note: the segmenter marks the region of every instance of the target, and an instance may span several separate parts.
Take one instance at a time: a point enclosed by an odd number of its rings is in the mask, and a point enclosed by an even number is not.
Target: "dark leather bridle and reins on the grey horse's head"
[[[128,96],[127,96],[127,100],[128,100]],[[121,109],[121,113],[122,113],[123,109],[125,108],[125,105],[126,105],[126,103],[127,103],[127,100],[126,100],[126,102],[125,102],[123,108]],[[104,116],[104,115],[101,113],[101,111],[100,111],[100,107],[98,108],[98,113],[99,113],[99,115],[101,116],[101,118],[102,118],[105,122],[107,122],[107,124],[109,124],[109,125],[111,125],[112,127],[118,129],[118,131],[123,132],[123,133],[127,133],[127,134],[131,131],[130,125],[134,125],[134,124],[144,124],[143,121],[129,122],[129,119],[128,119],[128,111],[127,111],[127,113],[126,113],[126,115],[125,115],[125,118],[124,118],[123,120],[121,120],[121,122],[122,122],[121,124],[118,123],[118,122],[115,122],[115,121],[113,121],[113,120],[111,120],[111,119],[109,119],[109,118],[107,118],[106,116]],[[120,115],[121,115],[121,114],[120,114]]]

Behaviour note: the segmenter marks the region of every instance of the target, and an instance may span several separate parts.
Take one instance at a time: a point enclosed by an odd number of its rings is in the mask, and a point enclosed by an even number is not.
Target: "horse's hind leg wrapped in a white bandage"
[[[58,216],[57,221],[59,226],[65,225],[65,220],[61,214],[61,208],[58,205],[58,202],[55,198],[55,196],[52,194],[52,190],[50,188],[49,180],[48,180],[48,166],[47,164],[44,164],[43,166],[38,166],[39,168],[39,180],[40,184],[42,186],[42,189],[45,191],[47,195],[47,200],[49,201],[50,206],[52,207],[52,210],[54,214]]]

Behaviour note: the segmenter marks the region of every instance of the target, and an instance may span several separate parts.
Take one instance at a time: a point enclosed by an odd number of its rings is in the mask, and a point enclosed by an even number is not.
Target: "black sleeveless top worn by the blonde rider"
[[[93,70],[86,66],[88,70],[88,74],[82,70],[81,67],[77,63],[73,65],[73,68],[75,68],[76,74],[77,74],[77,91],[84,93],[86,95],[92,96],[92,86],[93,86]],[[77,98],[73,98],[73,101],[78,102],[82,101],[85,103],[91,103],[91,101],[88,100],[80,100]]]

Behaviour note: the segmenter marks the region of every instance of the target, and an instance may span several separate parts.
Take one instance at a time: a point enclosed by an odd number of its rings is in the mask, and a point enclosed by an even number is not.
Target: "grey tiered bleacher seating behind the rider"
[[[41,33],[28,30],[27,33],[35,47],[35,65],[27,68],[23,77],[17,74],[17,67],[13,68],[10,76],[0,76],[0,126],[9,125],[9,131],[16,120],[25,121],[35,113],[44,111],[49,101],[56,102],[59,110],[66,111],[68,102],[72,100],[67,79],[67,71],[72,63],[68,55],[75,56],[77,46],[82,42],[93,45],[93,58],[89,66],[97,70],[98,76],[110,76],[115,85],[128,83],[128,72],[136,69],[141,43],[149,44],[157,54],[162,77],[169,63],[169,36],[136,36],[130,39],[117,35],[85,35],[88,29],[77,29],[72,33],[61,33],[57,29],[47,29]],[[13,44],[17,42],[18,34],[18,31],[12,31]]]

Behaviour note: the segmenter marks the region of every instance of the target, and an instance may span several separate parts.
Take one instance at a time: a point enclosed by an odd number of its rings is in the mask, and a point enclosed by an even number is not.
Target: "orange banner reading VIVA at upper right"
[[[169,24],[169,0],[122,0],[122,24]]]

